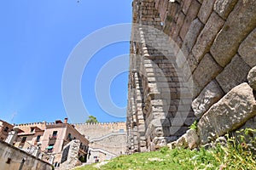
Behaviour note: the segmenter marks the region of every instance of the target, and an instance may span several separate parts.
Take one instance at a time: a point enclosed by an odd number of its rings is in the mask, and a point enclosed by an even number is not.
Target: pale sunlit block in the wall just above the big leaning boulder
[[[201,94],[192,102],[192,109],[197,118],[201,118],[203,114],[213,105],[218,99],[224,96],[224,92],[218,86],[218,82],[213,80],[207,84],[207,87],[201,91]]]

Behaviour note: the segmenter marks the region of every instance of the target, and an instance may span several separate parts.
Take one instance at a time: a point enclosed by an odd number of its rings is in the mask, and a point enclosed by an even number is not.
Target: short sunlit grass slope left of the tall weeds
[[[195,161],[196,164],[195,165]],[[166,150],[137,153],[131,156],[119,156],[108,164],[103,165],[101,169],[194,169],[197,167],[219,167],[220,164],[214,160],[214,157],[207,151],[190,150]],[[200,166],[207,161],[207,165]],[[76,170],[96,169],[95,164],[77,168]]]

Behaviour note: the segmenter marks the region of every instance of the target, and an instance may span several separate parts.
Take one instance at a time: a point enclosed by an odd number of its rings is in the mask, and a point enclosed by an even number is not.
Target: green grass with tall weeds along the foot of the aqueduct
[[[256,130],[253,133],[256,133]],[[164,147],[159,151],[119,156],[102,165],[99,169],[256,169],[255,153],[253,155],[256,141],[254,135],[247,142],[244,139],[238,141],[233,137],[228,137],[228,141],[226,146],[216,144],[210,150],[205,150],[204,148],[200,150],[169,150],[167,147]],[[251,144],[250,147],[248,147],[249,144]],[[251,150],[250,148],[254,149]],[[79,167],[76,170],[98,169],[94,167],[95,165]]]

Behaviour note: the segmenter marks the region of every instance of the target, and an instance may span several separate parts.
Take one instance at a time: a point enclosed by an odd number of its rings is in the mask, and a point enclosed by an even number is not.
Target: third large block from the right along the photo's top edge
[[[207,20],[210,14],[212,13],[214,3],[215,3],[215,0],[211,0],[211,1],[203,1],[203,3],[201,4],[201,8],[197,16],[202,23],[204,24],[207,23]]]

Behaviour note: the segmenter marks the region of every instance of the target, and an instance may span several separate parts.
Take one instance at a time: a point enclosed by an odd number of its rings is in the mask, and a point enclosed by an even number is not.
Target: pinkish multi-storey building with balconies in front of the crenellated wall
[[[57,120],[55,122],[36,122],[20,124],[18,127],[23,133],[18,133],[15,146],[26,149],[29,144],[36,145],[45,153],[55,156],[54,165],[59,167],[61,164],[62,150],[71,141],[79,140],[78,157],[87,161],[89,140],[79,133],[73,125]]]

